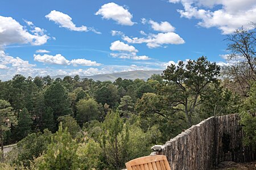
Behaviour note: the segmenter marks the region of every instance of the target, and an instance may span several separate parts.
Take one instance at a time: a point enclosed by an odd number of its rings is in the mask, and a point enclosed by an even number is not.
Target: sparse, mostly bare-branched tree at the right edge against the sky
[[[232,63],[223,70],[223,74],[231,80],[229,87],[247,97],[251,82],[256,80],[256,24],[254,29],[237,29],[226,37],[227,51],[230,52],[226,59]]]

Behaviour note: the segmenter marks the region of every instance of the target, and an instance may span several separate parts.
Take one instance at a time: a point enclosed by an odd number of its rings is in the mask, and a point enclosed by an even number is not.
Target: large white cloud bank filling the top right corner
[[[256,22],[256,1],[226,0],[169,0],[181,3],[184,10],[177,10],[181,17],[196,18],[201,27],[217,27],[223,34],[233,33],[243,26],[251,29],[250,22]],[[216,7],[216,8],[214,8]]]

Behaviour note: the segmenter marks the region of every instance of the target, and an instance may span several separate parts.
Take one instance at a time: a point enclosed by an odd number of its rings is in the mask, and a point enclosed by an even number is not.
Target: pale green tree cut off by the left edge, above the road
[[[0,100],[0,138],[1,151],[3,154],[3,141],[6,131],[10,130],[11,124],[16,124],[16,116],[11,104],[6,100]],[[3,156],[3,155],[2,155]]]

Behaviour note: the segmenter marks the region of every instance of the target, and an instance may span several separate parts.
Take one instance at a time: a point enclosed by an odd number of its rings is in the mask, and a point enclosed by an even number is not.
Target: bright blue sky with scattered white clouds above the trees
[[[0,0],[0,80],[225,65],[226,36],[250,22],[255,0]]]

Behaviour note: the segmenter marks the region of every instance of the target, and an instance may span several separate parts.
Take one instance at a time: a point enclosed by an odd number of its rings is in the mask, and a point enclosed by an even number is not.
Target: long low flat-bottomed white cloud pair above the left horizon
[[[56,54],[55,56],[51,56],[48,54],[44,54],[41,56],[40,54],[36,55],[34,54],[34,60],[38,62],[43,62],[43,63],[51,63],[51,64],[56,64],[56,65],[82,65],[82,66],[100,66],[100,63],[97,63],[96,61],[90,61],[84,58],[80,59],[72,59],[69,61],[66,59],[64,56],[61,54]]]

